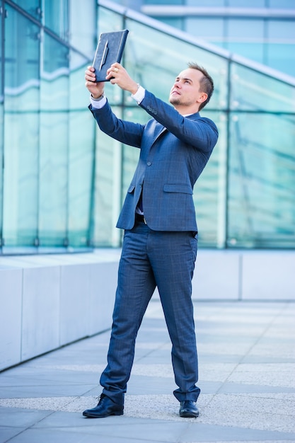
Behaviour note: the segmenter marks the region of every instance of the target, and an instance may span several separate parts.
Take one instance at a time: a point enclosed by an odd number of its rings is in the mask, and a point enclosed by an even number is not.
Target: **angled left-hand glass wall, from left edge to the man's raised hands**
[[[87,52],[69,45],[70,30],[79,25],[69,11],[79,2],[4,3],[1,252],[81,251],[92,244],[95,151],[83,88],[90,62]],[[92,54],[95,2],[84,6],[83,16],[83,41]]]

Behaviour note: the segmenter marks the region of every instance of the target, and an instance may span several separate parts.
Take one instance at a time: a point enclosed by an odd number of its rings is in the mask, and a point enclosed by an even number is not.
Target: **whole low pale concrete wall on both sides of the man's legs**
[[[0,370],[110,328],[119,258],[0,258]],[[192,287],[197,300],[295,300],[295,252],[200,250]]]

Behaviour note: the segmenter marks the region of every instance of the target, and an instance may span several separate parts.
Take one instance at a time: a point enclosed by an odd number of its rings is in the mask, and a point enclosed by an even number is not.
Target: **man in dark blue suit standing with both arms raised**
[[[112,64],[106,79],[132,94],[151,115],[146,125],[118,119],[96,83],[93,67],[86,70],[91,93],[89,109],[100,130],[139,148],[137,169],[127,190],[117,227],[125,229],[118,271],[108,365],[100,376],[103,393],[98,405],[83,412],[88,418],[122,415],[139,326],[154,289],[163,306],[172,342],[180,416],[195,418],[197,346],[192,306],[192,275],[197,256],[197,223],[192,189],[216,144],[216,125],[199,110],[212,95],[207,71],[188,64],[164,103],[134,81],[121,64]]]

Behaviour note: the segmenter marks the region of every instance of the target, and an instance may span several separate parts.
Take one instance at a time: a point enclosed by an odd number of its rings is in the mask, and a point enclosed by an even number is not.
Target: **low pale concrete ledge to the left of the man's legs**
[[[120,250],[0,258],[0,370],[110,328]]]

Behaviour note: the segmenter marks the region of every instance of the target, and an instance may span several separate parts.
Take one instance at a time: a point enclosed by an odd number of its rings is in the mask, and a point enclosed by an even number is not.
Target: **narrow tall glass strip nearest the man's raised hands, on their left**
[[[69,246],[91,243],[91,210],[94,173],[94,119],[86,107],[88,91],[83,88],[86,60],[71,53],[69,93]],[[83,130],[81,130],[83,128]]]

